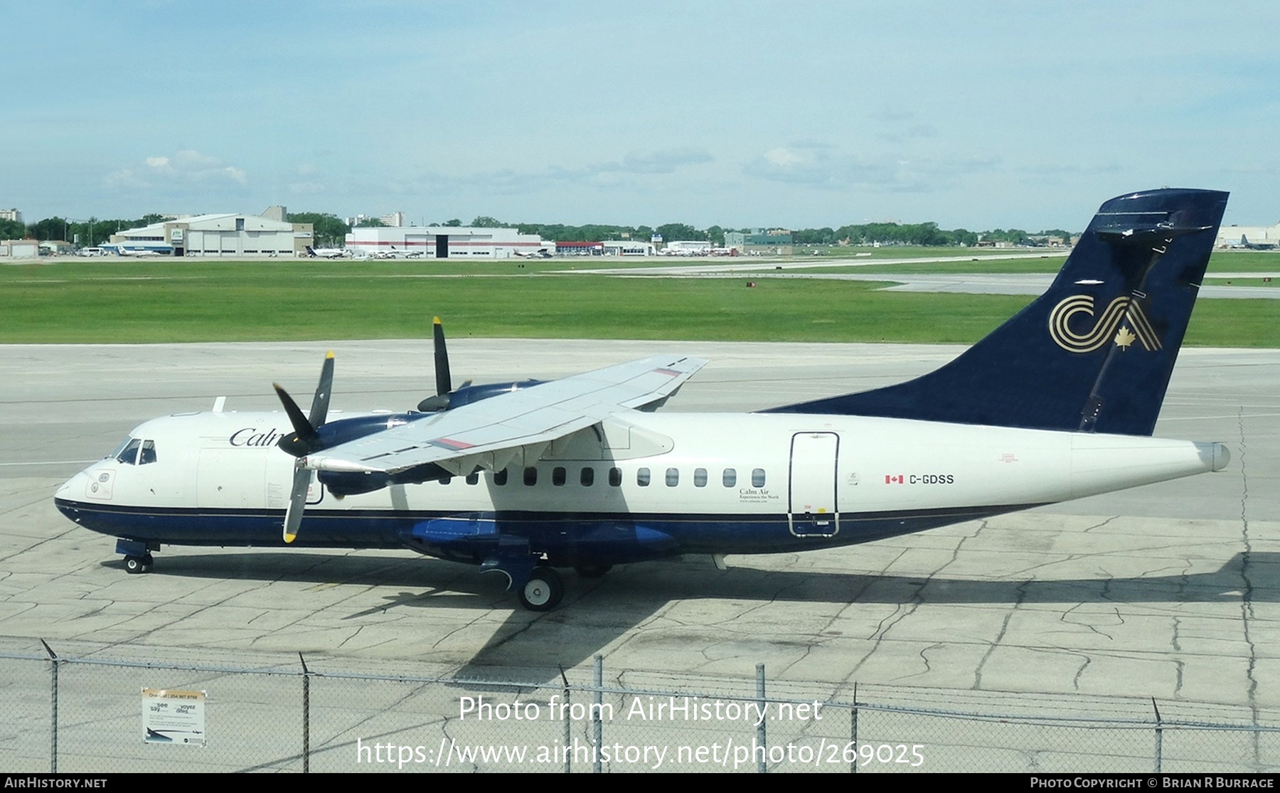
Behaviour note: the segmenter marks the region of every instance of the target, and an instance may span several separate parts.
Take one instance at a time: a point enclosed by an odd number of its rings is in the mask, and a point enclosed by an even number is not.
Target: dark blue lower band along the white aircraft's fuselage
[[[151,509],[55,500],[84,528],[127,539],[192,546],[283,546],[282,510]],[[436,512],[308,510],[294,546],[403,548],[481,561],[499,534],[576,564],[625,562],[678,553],[771,553],[847,546],[1037,505],[890,512],[842,512],[835,535],[796,535],[786,514]]]

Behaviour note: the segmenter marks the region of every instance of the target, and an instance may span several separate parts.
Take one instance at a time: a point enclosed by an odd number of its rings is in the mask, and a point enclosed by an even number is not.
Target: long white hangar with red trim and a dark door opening
[[[556,250],[538,234],[515,228],[468,225],[358,227],[347,234],[346,246],[355,254],[420,254],[426,259],[513,259]]]

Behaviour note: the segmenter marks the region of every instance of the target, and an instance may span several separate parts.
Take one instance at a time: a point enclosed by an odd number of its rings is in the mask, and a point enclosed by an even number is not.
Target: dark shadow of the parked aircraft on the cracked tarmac
[[[114,562],[108,562],[114,564]],[[460,670],[460,676],[489,676],[494,667],[576,666],[611,642],[684,600],[842,605],[1028,605],[1028,603],[1233,603],[1280,601],[1280,553],[1236,553],[1217,570],[1184,574],[1046,580],[902,576],[813,570],[714,569],[699,559],[626,565],[602,579],[566,575],[563,605],[548,612],[520,609],[504,592],[500,575],[477,575],[474,568],[420,559],[325,556],[306,552],[166,553],[152,575],[182,575],[302,584],[399,587],[384,602],[344,615],[343,620],[404,609],[509,609],[503,625]]]

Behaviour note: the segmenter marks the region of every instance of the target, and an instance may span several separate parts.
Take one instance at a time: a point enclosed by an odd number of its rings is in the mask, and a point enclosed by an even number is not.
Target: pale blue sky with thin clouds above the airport
[[[1280,219],[1280,4],[5,3],[23,219]]]

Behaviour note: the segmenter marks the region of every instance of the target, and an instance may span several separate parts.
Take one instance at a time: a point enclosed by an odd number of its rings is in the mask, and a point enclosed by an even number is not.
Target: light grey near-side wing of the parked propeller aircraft
[[[306,468],[399,473],[435,462],[468,474],[502,469],[520,451],[536,459],[552,442],[622,410],[660,402],[707,364],[654,356],[512,391],[340,443],[310,455]]]

